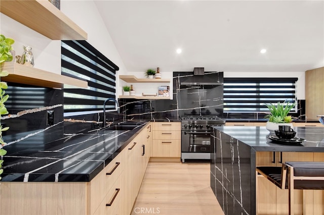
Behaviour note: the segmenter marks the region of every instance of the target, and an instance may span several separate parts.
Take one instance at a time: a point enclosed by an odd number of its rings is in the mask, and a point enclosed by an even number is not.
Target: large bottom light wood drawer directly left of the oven
[[[180,157],[180,140],[153,140],[153,157]]]

